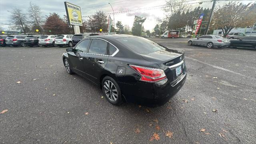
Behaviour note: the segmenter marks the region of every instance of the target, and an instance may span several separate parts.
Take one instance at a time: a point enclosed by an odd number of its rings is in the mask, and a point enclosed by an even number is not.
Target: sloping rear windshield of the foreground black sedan
[[[152,52],[162,51],[166,48],[156,42],[140,37],[117,38],[118,42],[139,54],[150,54]]]

